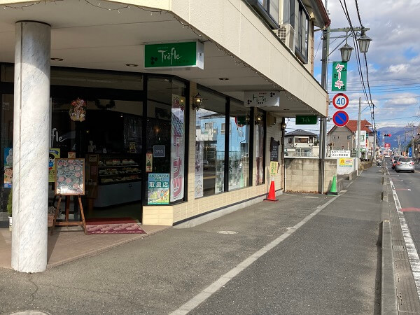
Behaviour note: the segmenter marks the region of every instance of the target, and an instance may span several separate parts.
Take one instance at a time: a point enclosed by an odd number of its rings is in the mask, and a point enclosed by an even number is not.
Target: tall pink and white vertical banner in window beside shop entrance
[[[185,104],[185,97],[172,94],[171,202],[184,196]]]

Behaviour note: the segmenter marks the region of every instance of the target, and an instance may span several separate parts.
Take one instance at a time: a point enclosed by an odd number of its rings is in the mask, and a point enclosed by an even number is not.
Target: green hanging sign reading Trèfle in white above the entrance
[[[204,69],[204,45],[198,41],[144,45],[144,67]]]

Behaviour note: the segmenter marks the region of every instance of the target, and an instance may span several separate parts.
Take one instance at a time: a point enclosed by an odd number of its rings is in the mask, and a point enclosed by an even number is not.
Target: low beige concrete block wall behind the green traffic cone
[[[285,158],[286,183],[284,190],[302,193],[318,193],[319,159]],[[331,187],[332,177],[337,174],[337,159],[325,160],[324,192]]]

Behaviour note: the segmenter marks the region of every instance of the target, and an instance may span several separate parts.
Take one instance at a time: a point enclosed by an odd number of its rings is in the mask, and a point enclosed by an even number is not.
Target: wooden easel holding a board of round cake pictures
[[[85,214],[83,212],[81,195],[85,195],[85,159],[55,159],[55,195],[58,195],[57,209],[55,209],[54,221],[52,223],[51,235],[55,226],[83,225],[87,235]],[[59,205],[62,196],[66,196],[66,220],[57,221]],[[80,216],[82,221],[69,221],[70,196],[78,197]]]

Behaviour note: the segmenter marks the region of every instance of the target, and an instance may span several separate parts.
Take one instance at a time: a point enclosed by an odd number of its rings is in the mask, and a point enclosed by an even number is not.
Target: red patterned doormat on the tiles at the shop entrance
[[[90,218],[86,229],[87,234],[146,234],[132,218]]]

